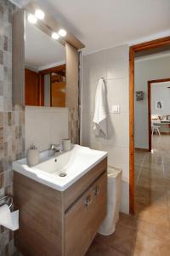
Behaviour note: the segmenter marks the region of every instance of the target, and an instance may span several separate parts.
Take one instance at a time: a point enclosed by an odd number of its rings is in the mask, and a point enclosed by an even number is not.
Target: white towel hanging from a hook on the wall
[[[99,136],[99,131],[103,131],[107,136],[107,113],[105,104],[105,82],[104,79],[99,79],[94,110],[94,131],[95,135]]]

